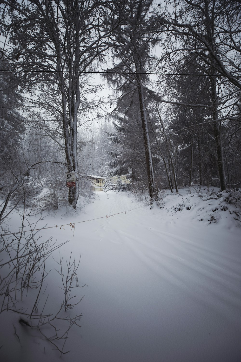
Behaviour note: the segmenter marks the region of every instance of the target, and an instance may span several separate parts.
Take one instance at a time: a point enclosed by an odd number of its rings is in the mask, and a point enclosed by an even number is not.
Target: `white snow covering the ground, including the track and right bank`
[[[39,234],[58,243],[69,240],[61,255],[68,259],[72,252],[78,259],[81,254],[78,282],[86,284],[73,290],[77,299],[85,295],[71,311],[82,313],[82,327],[70,330],[70,352],[63,361],[241,360],[238,209],[225,202],[225,195],[180,194],[167,193],[165,206],[150,210],[129,193],[99,192],[79,214],[42,215],[38,227],[75,224]],[[9,221],[11,231],[18,217],[15,213]],[[95,218],[100,219],[79,223]],[[46,311],[63,299],[56,263],[48,258],[51,268]],[[36,331],[18,319],[13,312],[0,315],[1,361],[57,361],[59,352],[32,337]]]

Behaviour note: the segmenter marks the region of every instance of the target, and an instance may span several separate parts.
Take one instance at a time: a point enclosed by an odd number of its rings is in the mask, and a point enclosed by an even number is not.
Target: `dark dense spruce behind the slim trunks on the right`
[[[168,107],[168,124],[178,150],[175,152],[178,181],[186,186],[193,182],[207,185],[211,174],[218,177],[210,114],[210,83],[200,66],[197,56],[187,53],[183,58],[169,61],[170,70],[173,72],[178,67],[180,75],[166,76],[166,94],[171,94],[177,101]]]

